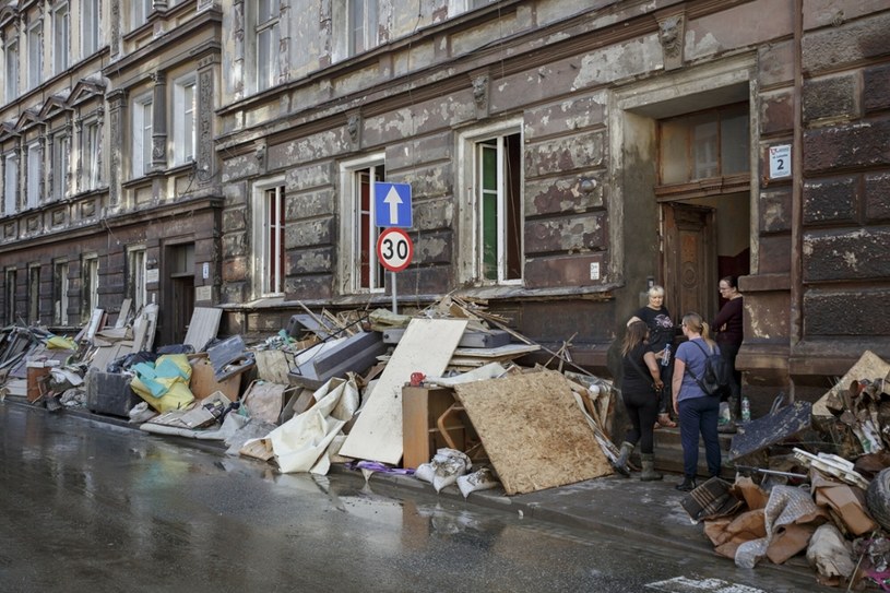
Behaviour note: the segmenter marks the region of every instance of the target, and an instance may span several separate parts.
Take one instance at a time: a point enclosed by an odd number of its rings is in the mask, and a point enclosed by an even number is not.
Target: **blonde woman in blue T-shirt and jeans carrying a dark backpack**
[[[688,341],[677,347],[677,355],[674,357],[673,391],[674,411],[680,419],[680,442],[683,443],[684,481],[677,485],[677,489],[688,493],[696,487],[699,435],[704,440],[708,473],[712,476],[720,475],[720,437],[717,435],[720,398],[708,395],[696,380],[697,377],[701,378],[704,375],[705,352],[716,351],[719,353],[720,348],[708,340],[708,325],[698,313],[684,316],[683,333]],[[689,369],[688,372],[687,369]]]

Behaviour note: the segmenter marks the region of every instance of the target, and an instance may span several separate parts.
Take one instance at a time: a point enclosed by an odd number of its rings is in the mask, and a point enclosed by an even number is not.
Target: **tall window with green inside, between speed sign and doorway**
[[[467,188],[461,212],[461,278],[484,284],[522,282],[521,122],[461,134],[459,166]]]

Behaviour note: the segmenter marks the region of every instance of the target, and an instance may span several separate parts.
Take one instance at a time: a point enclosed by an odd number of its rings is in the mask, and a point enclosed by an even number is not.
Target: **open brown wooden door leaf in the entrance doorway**
[[[665,306],[677,324],[690,311],[710,321],[717,300],[714,210],[678,202],[662,207]]]

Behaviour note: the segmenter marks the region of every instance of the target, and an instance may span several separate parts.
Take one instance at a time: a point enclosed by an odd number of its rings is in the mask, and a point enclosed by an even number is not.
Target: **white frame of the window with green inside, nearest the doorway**
[[[520,146],[523,145],[523,121],[521,118],[512,119],[509,121],[491,123],[488,126],[466,130],[459,134],[458,138],[458,175],[461,180],[461,200],[459,206],[460,216],[460,246],[461,252],[459,254],[459,280],[460,282],[471,282],[477,285],[522,285],[525,268],[525,240],[524,240],[524,212],[523,207],[519,209],[518,228],[513,232],[519,233],[520,240],[520,277],[507,277],[507,262],[506,262],[506,233],[510,229],[507,228],[507,216],[505,215],[505,201],[506,194],[503,193],[503,185],[506,175],[502,167],[503,159],[497,158],[497,187],[498,189],[498,215],[497,215],[497,278],[485,278],[484,274],[484,252],[483,252],[483,221],[482,221],[482,183],[479,176],[482,174],[480,167],[480,146],[484,142],[497,139],[498,150],[502,151],[503,139],[508,135],[520,134]],[[520,166],[520,204],[524,203],[524,186],[525,176],[522,170],[522,155],[519,158]],[[464,247],[466,246],[466,247]]]

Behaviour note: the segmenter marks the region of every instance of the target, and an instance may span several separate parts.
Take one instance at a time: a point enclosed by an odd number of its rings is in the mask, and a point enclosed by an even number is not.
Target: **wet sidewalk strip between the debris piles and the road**
[[[5,401],[34,407],[16,399],[7,398]],[[39,410],[46,412],[45,408]],[[122,418],[93,414],[87,411],[64,410],[59,413],[138,429]],[[218,454],[225,451],[225,446],[219,441],[159,435],[155,437]],[[330,473],[364,479],[360,472],[349,470],[342,464],[332,465]],[[646,539],[657,539],[673,548],[679,547],[702,554],[713,554],[713,545],[704,535],[703,525],[693,524],[680,507],[680,499],[685,493],[674,488],[680,481],[680,475],[665,473],[661,482],[641,482],[639,473],[632,473],[630,478],[616,474],[510,497],[502,488],[495,488],[471,493],[464,499],[455,485],[442,489],[438,496],[452,501],[463,501],[466,505],[478,505],[517,513],[526,519],[536,519],[571,529],[591,530],[601,535],[604,532],[614,534],[616,537],[622,534],[643,535]],[[412,491],[436,495],[432,485],[413,476],[378,472],[370,476],[369,483],[383,489],[391,488],[400,495],[407,493],[410,496]],[[727,568],[732,562],[731,559],[716,555],[714,555],[714,561],[727,562]],[[755,570],[791,571],[812,578],[815,582],[815,571],[802,556],[792,558],[784,565],[773,565],[764,560]]]

